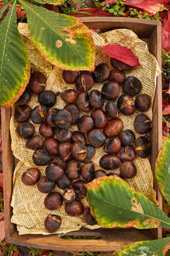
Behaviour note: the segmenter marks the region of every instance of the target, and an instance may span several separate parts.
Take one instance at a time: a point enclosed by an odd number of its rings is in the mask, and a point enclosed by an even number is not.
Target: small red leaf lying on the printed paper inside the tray
[[[129,66],[141,66],[137,57],[127,47],[119,44],[107,44],[106,46],[102,46],[102,50],[110,57],[117,59]]]

